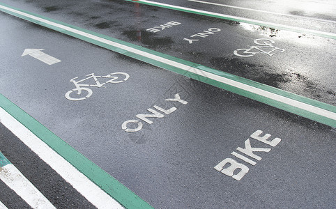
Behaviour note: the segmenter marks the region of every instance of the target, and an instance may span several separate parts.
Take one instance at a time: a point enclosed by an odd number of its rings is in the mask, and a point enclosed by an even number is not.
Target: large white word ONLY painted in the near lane
[[[182,100],[180,95],[178,93],[176,93],[176,95],[174,95],[174,98],[168,98],[165,101],[171,101],[171,102],[180,102],[181,104],[188,104],[187,101]],[[162,111],[164,114],[169,115],[171,114],[173,111],[176,111],[176,107],[171,107],[170,109],[163,109],[162,107],[158,107],[157,105],[153,106],[155,109]],[[137,114],[135,117],[139,118],[140,120],[148,123],[148,124],[152,124],[153,121],[149,120],[148,118],[163,118],[165,117],[164,114],[160,113],[159,111],[156,111],[155,109],[147,109],[148,111],[150,111],[152,114]],[[130,123],[135,123],[137,125],[137,127],[135,128],[130,128],[128,124]],[[139,120],[128,120],[123,122],[123,125],[121,125],[121,128],[123,130],[125,130],[125,132],[138,132],[139,130],[142,130],[143,124],[141,121]]]

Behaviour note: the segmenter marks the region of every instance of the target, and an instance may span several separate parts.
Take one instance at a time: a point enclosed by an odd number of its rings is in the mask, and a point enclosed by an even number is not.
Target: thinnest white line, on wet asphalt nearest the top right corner
[[[319,19],[319,18],[314,18],[314,17],[305,17],[305,16],[300,16],[300,15],[275,13],[275,12],[270,12],[270,11],[266,11],[266,10],[256,10],[256,9],[252,9],[252,8],[244,8],[244,7],[240,7],[240,6],[231,6],[231,5],[222,4],[222,3],[213,3],[213,2],[199,1],[199,0],[188,0],[188,1],[194,1],[194,2],[197,2],[197,3],[206,3],[206,4],[215,5],[215,6],[224,6],[224,7],[229,7],[229,8],[236,8],[236,9],[240,9],[240,10],[250,10],[250,11],[259,12],[259,13],[268,13],[268,14],[272,14],[272,15],[282,15],[282,16],[287,16],[287,17],[299,17],[299,18],[303,18],[303,19],[307,19],[307,20],[315,20],[315,21],[321,21],[321,22],[336,23],[336,21],[333,21],[333,20],[324,20],[324,19]]]

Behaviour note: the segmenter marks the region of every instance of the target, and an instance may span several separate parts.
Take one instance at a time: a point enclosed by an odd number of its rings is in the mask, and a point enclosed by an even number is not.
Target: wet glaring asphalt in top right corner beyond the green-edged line
[[[155,1],[253,20],[275,22],[309,29],[321,29],[322,31],[335,33],[336,5],[333,1]]]

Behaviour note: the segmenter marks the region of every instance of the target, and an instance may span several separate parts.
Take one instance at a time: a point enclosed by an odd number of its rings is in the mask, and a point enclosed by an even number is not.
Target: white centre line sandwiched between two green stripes
[[[142,1],[145,2],[146,0],[142,0]],[[146,1],[146,2],[150,2],[150,1]],[[164,3],[160,3],[160,4],[164,4]],[[250,92],[250,93],[254,93],[256,95],[261,95],[261,96],[263,96],[265,98],[269,98],[269,99],[275,100],[277,102],[282,102],[282,103],[287,104],[289,106],[297,107],[299,109],[303,109],[303,110],[309,111],[309,112],[311,112],[313,114],[317,114],[319,116],[324,116],[326,118],[330,118],[330,119],[333,119],[334,121],[336,121],[336,113],[334,113],[332,111],[328,111],[326,109],[321,109],[319,107],[314,107],[314,106],[312,106],[310,104],[306,104],[306,103],[300,102],[298,100],[293,100],[291,98],[287,98],[287,97],[284,97],[282,95],[277,95],[275,93],[271,93],[269,91],[265,91],[265,90],[262,90],[260,88],[256,88],[256,87],[253,87],[253,86],[250,86],[250,85],[247,85],[247,84],[236,82],[236,81],[234,81],[232,79],[221,77],[221,76],[215,75],[215,74],[213,74],[211,72],[206,72],[204,70],[199,70],[197,68],[192,68],[192,67],[190,67],[188,65],[184,65],[184,64],[178,63],[176,61],[171,61],[171,60],[165,59],[165,58],[163,58],[161,56],[157,56],[155,54],[144,52],[142,50],[135,49],[133,47],[128,47],[126,45],[119,44],[118,42],[114,42],[112,40],[107,40],[105,38],[100,38],[99,36],[95,36],[95,35],[92,35],[90,33],[86,33],[84,31],[79,31],[79,30],[73,29],[73,28],[71,28],[69,26],[65,26],[65,25],[62,25],[62,24],[51,22],[49,20],[45,20],[45,19],[40,18],[40,17],[29,15],[27,13],[23,13],[23,12],[20,12],[18,10],[14,10],[12,8],[8,8],[8,7],[1,6],[1,5],[0,5],[0,8],[4,8],[6,10],[10,10],[13,13],[17,13],[19,15],[23,15],[25,17],[29,17],[29,18],[31,18],[33,20],[37,20],[39,22],[43,22],[45,24],[49,24],[51,26],[58,27],[59,29],[70,31],[72,33],[76,33],[77,35],[84,36],[86,38],[91,38],[93,40],[105,43],[105,44],[110,45],[112,47],[117,47],[119,49],[124,49],[125,51],[132,52],[132,53],[138,54],[140,56],[145,56],[145,57],[147,57],[149,59],[153,59],[153,60],[159,61],[161,63],[166,63],[168,65],[174,66],[176,68],[180,68],[180,69],[188,71],[188,72],[192,72],[192,73],[200,75],[202,77],[213,79],[213,80],[215,80],[217,82],[221,82],[222,84],[228,84],[230,86],[234,86],[236,88],[240,88],[240,89],[242,89],[244,91],[247,91],[247,92]]]

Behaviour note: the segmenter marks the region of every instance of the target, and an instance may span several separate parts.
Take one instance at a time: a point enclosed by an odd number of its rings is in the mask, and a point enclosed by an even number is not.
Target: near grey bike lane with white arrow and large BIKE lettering
[[[259,208],[284,206],[287,201],[297,206],[328,207],[333,203],[333,187],[330,196],[323,194],[319,201],[311,201],[316,192],[333,185],[333,174],[328,176],[335,170],[332,128],[61,33],[3,17],[3,21],[15,21],[15,27],[7,30],[13,33],[1,33],[6,40],[1,50],[6,57],[1,77],[3,95],[155,208],[247,207],[252,203]],[[27,40],[61,62],[47,65],[33,57],[17,61],[13,54],[21,56]],[[106,84],[106,88],[92,88],[93,94],[82,101],[66,99],[66,92],[74,88],[70,79],[112,72],[125,72],[130,78],[120,84]],[[139,116],[151,114],[148,108],[160,113],[147,118],[153,123]],[[142,129],[125,132],[122,125],[130,120],[142,121]],[[126,126],[139,127],[130,125]],[[269,142],[259,139],[257,130],[270,133]],[[264,148],[253,150],[263,160],[236,150],[247,148],[246,144]],[[231,154],[233,151],[236,153]],[[239,162],[236,165],[243,172],[249,169],[239,181],[214,169],[228,158],[235,160],[234,164]],[[314,172],[305,173],[308,169]]]

